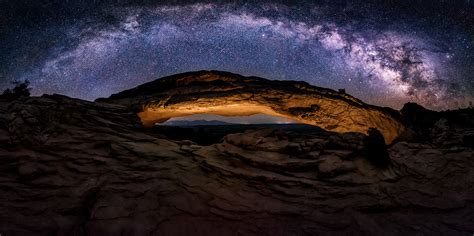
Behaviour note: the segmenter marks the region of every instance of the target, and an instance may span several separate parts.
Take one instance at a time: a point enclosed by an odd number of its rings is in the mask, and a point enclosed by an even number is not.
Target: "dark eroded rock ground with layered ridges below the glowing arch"
[[[474,129],[449,120],[376,168],[360,133],[262,128],[202,146],[121,105],[45,96],[0,111],[2,235],[474,233]]]

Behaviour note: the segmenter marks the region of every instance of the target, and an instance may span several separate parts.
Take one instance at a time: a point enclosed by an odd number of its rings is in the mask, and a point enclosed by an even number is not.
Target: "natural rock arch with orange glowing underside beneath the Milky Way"
[[[132,107],[144,126],[194,114],[266,114],[334,132],[367,133],[376,128],[386,143],[406,131],[394,110],[366,104],[344,92],[221,71],[168,76],[97,101]]]

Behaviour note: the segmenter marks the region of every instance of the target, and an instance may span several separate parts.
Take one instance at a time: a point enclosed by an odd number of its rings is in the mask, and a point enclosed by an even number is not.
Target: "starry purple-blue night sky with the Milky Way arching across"
[[[93,100],[224,70],[395,109],[474,101],[474,1],[97,2],[0,1],[0,89]]]

